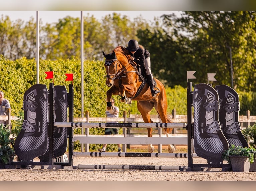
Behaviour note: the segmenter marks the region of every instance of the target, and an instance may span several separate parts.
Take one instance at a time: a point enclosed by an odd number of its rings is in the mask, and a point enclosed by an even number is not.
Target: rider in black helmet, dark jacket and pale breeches
[[[126,50],[129,51],[129,54],[131,55],[131,60],[133,60],[136,64],[140,66],[144,66],[146,70],[147,81],[151,90],[151,95],[155,97],[158,93],[160,93],[160,90],[158,88],[158,90],[154,90],[154,88],[156,87],[154,86],[153,75],[150,68],[150,53],[141,45],[139,45],[138,41],[134,39],[128,42]]]

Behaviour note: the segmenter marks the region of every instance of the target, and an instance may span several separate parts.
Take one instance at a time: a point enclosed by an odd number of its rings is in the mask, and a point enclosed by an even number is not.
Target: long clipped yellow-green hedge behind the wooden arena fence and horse
[[[81,61],[78,58],[70,60],[40,60],[39,61],[39,83],[46,84],[52,82],[45,79],[44,72],[53,71],[54,85],[68,86],[71,82],[65,81],[66,73],[73,73],[74,77],[74,117],[81,117]],[[32,85],[36,84],[36,60],[25,57],[15,61],[7,60],[0,56],[0,90],[5,93],[5,98],[10,101],[12,115],[17,115],[22,110],[24,92]],[[90,111],[90,116],[105,117],[106,91],[109,89],[106,84],[106,76],[103,61],[84,61],[84,112]],[[256,115],[256,94],[254,92],[239,92],[240,95],[240,115],[246,115],[249,109],[251,115]],[[186,115],[186,88],[175,86],[173,89],[166,87],[168,100],[168,110],[176,109],[177,114]],[[127,105],[118,101],[120,96],[114,96],[116,105],[120,109],[120,117],[123,111],[132,114],[139,114],[136,101]],[[156,111],[152,111],[156,114]],[[85,113],[84,113],[85,114]],[[75,133],[79,133],[77,129]],[[103,133],[103,129],[91,128],[90,134]]]

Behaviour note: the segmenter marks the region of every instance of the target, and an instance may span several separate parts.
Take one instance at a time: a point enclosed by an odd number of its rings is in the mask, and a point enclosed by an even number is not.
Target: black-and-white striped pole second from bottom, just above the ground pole
[[[73,152],[74,157],[156,157],[156,158],[187,158],[187,153],[141,153],[141,152]],[[193,158],[200,158],[193,153]]]

